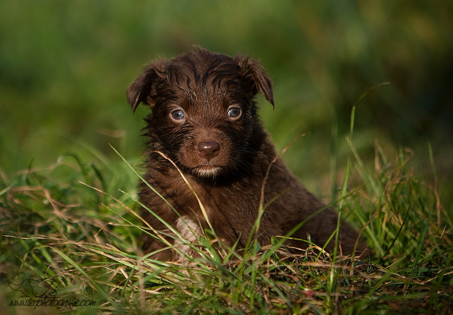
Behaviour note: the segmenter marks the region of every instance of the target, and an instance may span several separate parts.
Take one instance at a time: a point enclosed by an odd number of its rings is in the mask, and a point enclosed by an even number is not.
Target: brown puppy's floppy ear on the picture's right
[[[266,75],[264,68],[256,60],[247,56],[238,55],[235,62],[241,68],[241,74],[250,80],[254,94],[261,91],[266,100],[274,106],[272,81]]]

